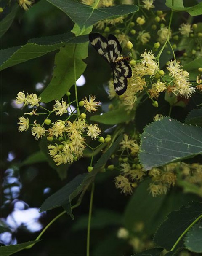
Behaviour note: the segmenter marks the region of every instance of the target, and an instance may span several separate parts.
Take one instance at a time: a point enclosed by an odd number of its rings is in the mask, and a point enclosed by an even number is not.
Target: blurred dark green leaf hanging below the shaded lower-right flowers
[[[142,224],[141,232],[153,234],[159,225],[157,216],[166,196],[152,197],[148,191],[150,182],[145,179],[138,185],[125,209],[125,228],[130,232],[138,232],[138,226]]]

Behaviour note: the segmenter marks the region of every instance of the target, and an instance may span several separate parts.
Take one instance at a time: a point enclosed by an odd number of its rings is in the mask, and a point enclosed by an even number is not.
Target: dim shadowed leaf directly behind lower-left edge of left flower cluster
[[[40,141],[40,150],[46,157],[46,161],[48,162],[49,166],[52,167],[54,170],[58,172],[59,177],[61,180],[64,180],[67,176],[67,170],[69,168],[69,164],[60,164],[59,166],[53,161],[53,158],[49,155],[48,145],[54,145],[54,143],[58,143],[58,140],[54,140],[53,142],[48,141],[46,138]]]

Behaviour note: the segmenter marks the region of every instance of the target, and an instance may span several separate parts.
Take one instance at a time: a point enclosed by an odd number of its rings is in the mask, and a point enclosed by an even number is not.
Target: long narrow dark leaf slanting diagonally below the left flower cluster
[[[101,156],[101,158],[94,166],[92,172],[76,176],[64,187],[48,197],[41,205],[40,211],[43,212],[62,206],[66,210],[66,212],[72,217],[72,219],[74,219],[71,209],[71,201],[75,197],[77,197],[77,195],[79,195],[82,191],[86,190],[88,186],[94,181],[96,174],[100,170],[100,167],[103,164],[106,164],[111,154],[116,150],[121,139],[122,135],[120,135],[117,140],[112,144],[112,146],[108,148],[108,150]]]

